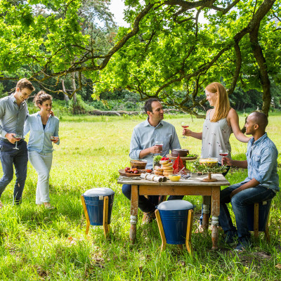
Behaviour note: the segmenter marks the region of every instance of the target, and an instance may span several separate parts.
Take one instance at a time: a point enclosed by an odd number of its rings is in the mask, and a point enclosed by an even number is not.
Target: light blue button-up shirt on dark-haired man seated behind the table
[[[146,119],[144,122],[136,125],[133,129],[129,154],[131,159],[139,159],[141,150],[154,146],[157,136],[162,136],[162,156],[169,154],[169,150],[181,148],[176,129],[172,124],[161,120],[159,124],[154,127],[151,126],[148,119]],[[148,161],[146,164],[147,169],[152,168],[153,157],[155,157],[155,155],[151,153],[143,157],[143,159]]]

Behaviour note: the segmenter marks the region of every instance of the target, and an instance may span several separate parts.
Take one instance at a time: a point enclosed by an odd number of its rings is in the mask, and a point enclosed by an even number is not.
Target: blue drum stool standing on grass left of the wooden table
[[[110,188],[92,188],[81,195],[86,217],[86,234],[91,226],[103,226],[105,237],[109,232],[110,217],[115,192]]]

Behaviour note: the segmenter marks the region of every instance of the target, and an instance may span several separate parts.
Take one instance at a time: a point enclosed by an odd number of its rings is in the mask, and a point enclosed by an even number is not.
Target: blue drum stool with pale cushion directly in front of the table
[[[161,251],[166,244],[185,244],[192,253],[191,233],[194,206],[185,200],[171,200],[157,206],[155,215],[162,239]],[[160,252],[161,254],[161,252]]]

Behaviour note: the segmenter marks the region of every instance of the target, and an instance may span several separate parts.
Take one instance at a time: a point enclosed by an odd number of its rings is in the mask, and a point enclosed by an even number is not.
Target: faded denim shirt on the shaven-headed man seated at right
[[[278,151],[273,141],[265,133],[257,141],[251,138],[247,147],[248,177],[245,182],[255,178],[266,188],[279,190],[277,174]]]

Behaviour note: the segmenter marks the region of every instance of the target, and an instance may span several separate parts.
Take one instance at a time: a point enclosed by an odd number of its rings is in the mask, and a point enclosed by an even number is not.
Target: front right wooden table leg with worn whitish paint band
[[[220,212],[220,191],[221,188],[214,187],[211,195],[211,224],[213,226],[211,230],[211,241],[213,242],[212,250],[218,249],[218,216]]]

